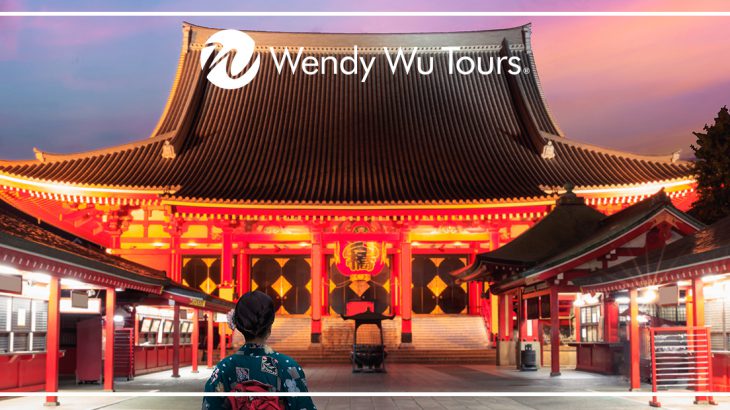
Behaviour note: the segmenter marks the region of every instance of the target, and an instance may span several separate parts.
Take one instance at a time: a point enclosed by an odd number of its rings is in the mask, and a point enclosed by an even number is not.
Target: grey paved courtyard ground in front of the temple
[[[565,371],[551,378],[547,371],[518,372],[490,365],[392,365],[387,374],[353,374],[347,365],[307,366],[313,392],[625,392],[620,377]],[[210,371],[190,368],[173,379],[170,372],[139,376],[117,382],[117,392],[199,392]],[[65,387],[65,388],[64,388]],[[645,386],[648,391],[649,386]],[[99,391],[99,386],[66,384],[62,391]],[[697,409],[691,398],[662,400],[665,409]],[[720,398],[730,409],[730,399]],[[0,409],[41,409],[40,397],[0,401]],[[65,397],[60,409],[199,409],[198,397]],[[650,409],[643,397],[316,397],[320,409]],[[47,407],[45,407],[47,409]]]

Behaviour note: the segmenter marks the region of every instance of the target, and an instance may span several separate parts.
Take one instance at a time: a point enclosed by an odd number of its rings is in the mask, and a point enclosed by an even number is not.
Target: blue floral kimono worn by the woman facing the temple
[[[205,391],[240,391],[240,386],[251,383],[263,386],[266,389],[264,391],[307,392],[304,370],[294,359],[274,352],[267,346],[249,343],[216,365],[205,383]],[[203,409],[230,409],[234,406],[231,400],[227,397],[206,396]],[[316,409],[309,396],[282,397],[281,400],[286,409]]]

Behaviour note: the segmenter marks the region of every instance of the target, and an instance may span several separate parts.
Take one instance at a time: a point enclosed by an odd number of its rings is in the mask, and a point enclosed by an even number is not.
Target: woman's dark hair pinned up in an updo
[[[271,332],[275,314],[274,301],[269,295],[256,290],[238,299],[233,324],[247,341],[264,338]]]

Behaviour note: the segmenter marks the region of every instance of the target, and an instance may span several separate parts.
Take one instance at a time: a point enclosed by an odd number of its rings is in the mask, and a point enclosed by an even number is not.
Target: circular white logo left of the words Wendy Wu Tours
[[[216,48],[220,50],[216,53]],[[244,72],[253,57],[256,43],[248,34],[238,30],[222,30],[208,37],[200,53],[200,67],[210,67],[208,81],[220,88],[235,90],[250,83],[259,72],[259,56]],[[211,58],[212,56],[212,58]],[[232,60],[228,59],[232,57]],[[230,68],[229,68],[230,67]]]

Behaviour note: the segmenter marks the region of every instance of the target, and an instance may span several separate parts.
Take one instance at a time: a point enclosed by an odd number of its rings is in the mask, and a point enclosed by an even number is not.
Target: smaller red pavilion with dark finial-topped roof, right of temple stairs
[[[553,376],[561,367],[611,374],[620,362],[618,305],[608,297],[583,297],[577,283],[601,269],[633,264],[704,225],[663,191],[605,215],[567,188],[540,222],[452,275],[457,283],[489,283],[498,298],[498,364],[520,366],[519,352],[529,346]],[[592,306],[584,307],[586,300]]]

